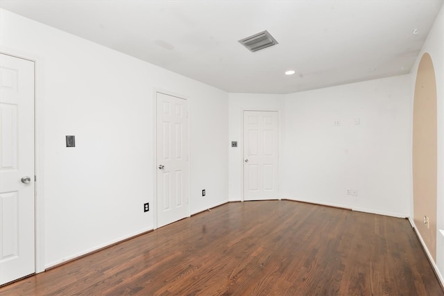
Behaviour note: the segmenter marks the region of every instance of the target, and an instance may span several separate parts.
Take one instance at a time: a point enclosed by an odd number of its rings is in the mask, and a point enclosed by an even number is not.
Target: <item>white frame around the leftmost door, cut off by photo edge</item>
[[[0,53],[34,62],[35,273],[44,272],[44,59],[33,53],[0,46]]]

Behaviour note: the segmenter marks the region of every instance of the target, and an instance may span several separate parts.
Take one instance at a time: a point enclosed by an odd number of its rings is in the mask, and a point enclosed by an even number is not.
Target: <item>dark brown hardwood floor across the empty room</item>
[[[0,295],[444,295],[406,219],[235,202],[0,288]]]

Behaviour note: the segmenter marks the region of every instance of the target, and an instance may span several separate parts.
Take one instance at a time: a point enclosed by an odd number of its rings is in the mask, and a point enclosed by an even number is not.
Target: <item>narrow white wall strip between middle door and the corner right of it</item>
[[[228,202],[228,94],[204,86],[196,82],[187,86],[194,98],[190,112],[191,214]]]

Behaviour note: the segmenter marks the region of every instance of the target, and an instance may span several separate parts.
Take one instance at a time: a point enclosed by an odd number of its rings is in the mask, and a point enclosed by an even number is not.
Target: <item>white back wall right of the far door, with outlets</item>
[[[407,75],[287,95],[282,198],[409,216],[409,82]]]

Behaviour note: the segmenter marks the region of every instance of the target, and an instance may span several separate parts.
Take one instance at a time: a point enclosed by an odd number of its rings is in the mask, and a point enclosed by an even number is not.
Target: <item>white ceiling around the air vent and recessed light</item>
[[[1,0],[0,7],[226,92],[409,73],[443,0]],[[238,40],[267,30],[279,44]],[[416,32],[416,34],[413,33]],[[292,76],[284,71],[294,69]]]

